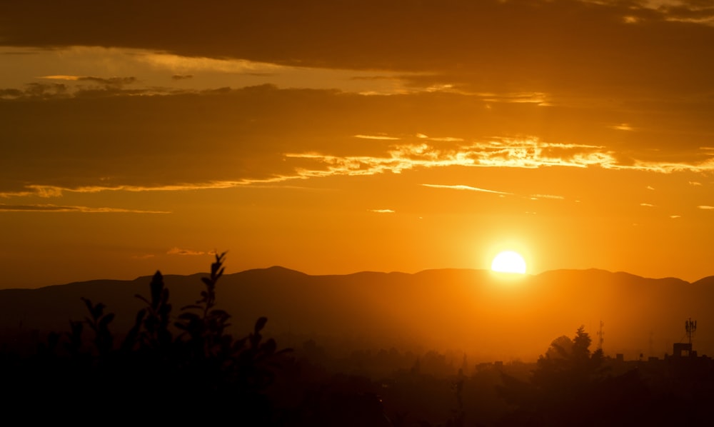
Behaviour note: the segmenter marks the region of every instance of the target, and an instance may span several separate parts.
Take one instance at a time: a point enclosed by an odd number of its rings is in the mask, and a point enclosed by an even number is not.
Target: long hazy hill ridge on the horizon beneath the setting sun
[[[201,276],[165,276],[174,314],[194,303]],[[86,316],[80,297],[116,313],[114,331],[126,331],[148,295],[151,277],[86,281],[36,289],[0,290],[0,331],[68,331]],[[223,276],[218,304],[247,333],[259,316],[283,346],[308,337],[343,348],[431,348],[468,352],[473,361],[535,359],[550,341],[573,336],[580,325],[605,353],[625,358],[663,356],[685,338],[684,322],[698,321],[694,348],[714,355],[714,276],[689,283],[603,270],[558,270],[503,278],[491,271],[427,270],[310,276],[261,268]],[[288,342],[286,342],[288,341]],[[290,342],[291,341],[291,342]]]

